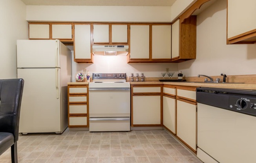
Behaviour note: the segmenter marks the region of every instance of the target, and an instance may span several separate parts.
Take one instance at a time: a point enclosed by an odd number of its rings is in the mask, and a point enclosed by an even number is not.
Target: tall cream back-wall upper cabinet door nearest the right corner
[[[152,59],[171,59],[171,25],[152,25]]]

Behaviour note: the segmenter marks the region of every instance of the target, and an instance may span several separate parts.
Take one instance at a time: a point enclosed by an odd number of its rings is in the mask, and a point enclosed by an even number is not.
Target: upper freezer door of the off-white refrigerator
[[[17,40],[17,67],[60,67],[59,40]]]

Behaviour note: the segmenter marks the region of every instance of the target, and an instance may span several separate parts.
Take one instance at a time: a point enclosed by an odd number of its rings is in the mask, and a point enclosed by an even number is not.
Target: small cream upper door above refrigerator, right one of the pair
[[[53,39],[72,39],[72,24],[53,24]]]

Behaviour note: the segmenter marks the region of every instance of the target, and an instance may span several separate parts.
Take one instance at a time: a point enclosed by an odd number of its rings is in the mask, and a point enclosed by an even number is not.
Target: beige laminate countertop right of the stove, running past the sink
[[[137,84],[166,84],[192,87],[211,87],[211,88],[226,88],[226,89],[249,89],[256,90],[256,84],[253,83],[190,83],[190,82],[130,82],[133,85]]]

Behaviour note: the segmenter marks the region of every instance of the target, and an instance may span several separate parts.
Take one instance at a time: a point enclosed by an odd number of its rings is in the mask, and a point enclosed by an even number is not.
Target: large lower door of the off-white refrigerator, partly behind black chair
[[[61,121],[60,88],[56,85],[56,72],[60,69],[17,69],[18,78],[24,79],[20,110],[21,133],[63,132]],[[60,85],[60,80],[58,79]],[[57,90],[59,93],[57,94]],[[68,110],[66,110],[67,112]]]

